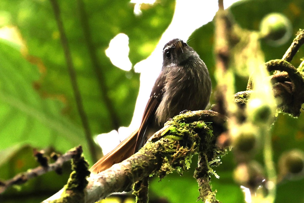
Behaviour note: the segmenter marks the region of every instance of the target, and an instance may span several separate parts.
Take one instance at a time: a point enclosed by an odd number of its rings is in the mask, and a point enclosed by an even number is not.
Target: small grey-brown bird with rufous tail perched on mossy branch
[[[136,153],[166,121],[188,110],[204,110],[212,90],[209,71],[199,54],[181,39],[163,48],[163,65],[152,88],[140,127],[89,170],[93,174],[110,168]]]

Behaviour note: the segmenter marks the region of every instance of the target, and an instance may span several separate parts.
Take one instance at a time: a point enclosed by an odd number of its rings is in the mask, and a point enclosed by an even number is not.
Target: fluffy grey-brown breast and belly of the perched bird
[[[208,71],[208,70],[207,70]],[[211,80],[200,67],[174,67],[167,73],[164,94],[156,110],[160,124],[183,110],[203,110],[209,102]],[[209,90],[210,89],[210,90]]]

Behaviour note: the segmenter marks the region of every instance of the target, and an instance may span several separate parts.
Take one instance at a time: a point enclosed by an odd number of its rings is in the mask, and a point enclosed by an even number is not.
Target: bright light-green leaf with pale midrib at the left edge
[[[0,58],[0,149],[23,142],[36,147],[54,146],[63,152],[81,143],[87,149],[81,127],[62,115],[63,104],[43,99],[33,89],[33,81],[40,77],[37,67],[3,40]]]

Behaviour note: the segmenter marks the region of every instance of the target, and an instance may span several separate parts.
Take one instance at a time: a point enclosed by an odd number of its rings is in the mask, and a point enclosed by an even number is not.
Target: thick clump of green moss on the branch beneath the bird
[[[196,118],[199,121],[188,122],[190,115],[193,117],[192,112],[175,116],[166,123],[169,127],[161,134],[163,140],[147,143],[149,150],[158,149],[159,156],[164,157],[160,169],[156,172],[160,178],[174,170],[180,174],[187,171],[193,155],[198,152],[208,154],[211,169],[212,166],[219,165],[219,156],[227,151],[216,148],[211,123],[204,122],[201,117]],[[209,172],[213,173],[213,170]]]

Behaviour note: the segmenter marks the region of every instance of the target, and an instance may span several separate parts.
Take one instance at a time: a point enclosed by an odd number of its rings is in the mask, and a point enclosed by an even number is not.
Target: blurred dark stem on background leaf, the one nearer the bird
[[[92,34],[91,34],[90,26],[88,23],[88,17],[85,12],[85,5],[82,0],[78,0],[77,3],[78,3],[79,14],[80,14],[81,26],[82,26],[82,30],[83,30],[84,37],[85,37],[85,43],[87,45],[87,48],[89,51],[89,56],[91,58],[92,65],[93,65],[94,71],[96,73],[97,82],[98,82],[98,86],[99,86],[99,90],[100,90],[100,95],[102,97],[102,100],[105,102],[105,106],[107,107],[106,109],[109,114],[108,122],[110,123],[112,129],[118,130],[119,119],[115,113],[113,104],[108,96],[109,91],[108,91],[107,85],[105,83],[105,77],[102,73],[102,66],[101,66],[100,61],[98,60],[98,57],[96,54],[96,52],[97,52],[96,47],[94,46],[94,43],[92,40]]]

